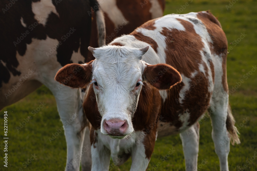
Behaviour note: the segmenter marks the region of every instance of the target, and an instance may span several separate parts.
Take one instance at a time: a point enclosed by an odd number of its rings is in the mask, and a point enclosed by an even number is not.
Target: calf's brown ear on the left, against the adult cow
[[[72,88],[85,88],[91,81],[92,62],[88,65],[67,64],[56,73],[54,79]]]

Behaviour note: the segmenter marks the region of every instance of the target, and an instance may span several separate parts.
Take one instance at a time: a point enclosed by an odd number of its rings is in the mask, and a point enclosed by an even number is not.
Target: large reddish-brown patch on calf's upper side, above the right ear
[[[200,50],[204,47],[201,37],[195,32],[194,26],[185,20],[177,19],[186,31],[171,31],[164,27],[161,34],[166,37],[166,63],[176,68],[181,74],[190,77],[199,71],[202,63]]]

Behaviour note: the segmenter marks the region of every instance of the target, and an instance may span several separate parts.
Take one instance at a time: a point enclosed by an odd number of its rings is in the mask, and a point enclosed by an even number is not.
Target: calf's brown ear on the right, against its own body
[[[158,89],[170,89],[182,81],[179,72],[170,65],[146,65],[144,78]]]

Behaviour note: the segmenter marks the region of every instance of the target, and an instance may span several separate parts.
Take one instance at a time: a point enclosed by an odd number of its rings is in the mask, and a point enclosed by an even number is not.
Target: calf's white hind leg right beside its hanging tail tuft
[[[219,100],[213,100],[209,109],[212,121],[212,139],[215,146],[215,152],[219,157],[221,171],[228,170],[228,153],[230,151],[230,137],[226,128],[228,112],[228,94],[224,93]]]

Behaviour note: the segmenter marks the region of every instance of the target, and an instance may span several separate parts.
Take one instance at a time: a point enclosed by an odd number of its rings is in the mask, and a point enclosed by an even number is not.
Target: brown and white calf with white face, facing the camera
[[[206,110],[212,110],[220,169],[228,170],[224,139],[240,140],[228,105],[227,39],[211,13],[166,15],[89,50],[94,61],[68,64],[55,79],[70,76],[67,86],[89,86],[84,110],[92,125],[92,170],[108,170],[110,156],[118,165],[131,156],[130,170],[146,170],[157,136],[177,133],[186,170],[197,170],[197,121]]]

